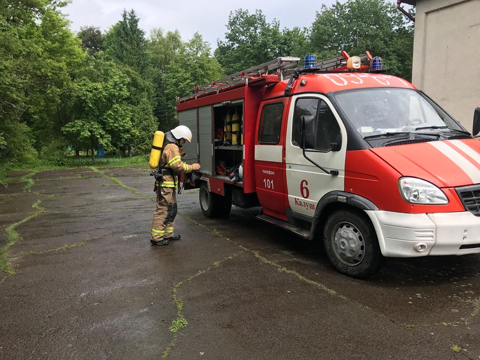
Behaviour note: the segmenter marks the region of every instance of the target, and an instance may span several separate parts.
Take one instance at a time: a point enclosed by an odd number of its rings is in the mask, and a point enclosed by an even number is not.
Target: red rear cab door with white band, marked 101
[[[255,139],[255,188],[263,213],[286,219],[283,189],[281,134],[285,103],[272,100],[260,105]]]

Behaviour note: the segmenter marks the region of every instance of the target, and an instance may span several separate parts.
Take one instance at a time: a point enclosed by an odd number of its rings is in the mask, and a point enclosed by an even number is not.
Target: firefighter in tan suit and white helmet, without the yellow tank
[[[178,240],[180,234],[173,235],[173,221],[176,215],[177,175],[199,170],[200,164],[188,165],[181,161],[186,155],[181,146],[190,142],[191,131],[179,125],[165,133],[165,145],[160,157],[159,176],[155,180],[156,210],[151,222],[150,243],[152,245],[168,245],[170,240]]]

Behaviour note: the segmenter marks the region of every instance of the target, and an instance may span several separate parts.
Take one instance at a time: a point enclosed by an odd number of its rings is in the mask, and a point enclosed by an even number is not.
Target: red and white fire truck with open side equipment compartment
[[[385,257],[480,252],[480,142],[368,51],[279,57],[196,86],[176,110],[205,216],[260,206],[257,219],[320,241],[357,278]]]

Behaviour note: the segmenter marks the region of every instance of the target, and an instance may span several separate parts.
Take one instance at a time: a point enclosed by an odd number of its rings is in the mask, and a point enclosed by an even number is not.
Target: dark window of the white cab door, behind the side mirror
[[[328,104],[319,98],[300,98],[296,100],[293,112],[292,144],[300,143],[300,117],[315,117],[315,149],[330,150],[333,142],[340,143],[340,126]]]

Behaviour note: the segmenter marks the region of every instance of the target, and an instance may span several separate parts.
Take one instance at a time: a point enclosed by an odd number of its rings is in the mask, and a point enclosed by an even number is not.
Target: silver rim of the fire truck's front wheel
[[[331,234],[331,248],[335,256],[347,266],[358,265],[365,257],[363,236],[350,222],[340,222]]]

